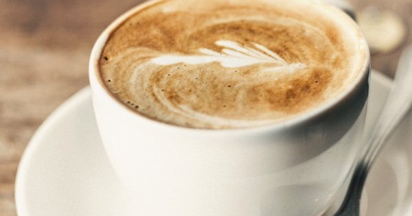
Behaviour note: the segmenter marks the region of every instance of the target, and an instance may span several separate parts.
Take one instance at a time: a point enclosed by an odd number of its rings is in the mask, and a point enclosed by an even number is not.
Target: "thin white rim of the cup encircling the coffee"
[[[149,6],[155,5],[157,3],[161,3],[165,0],[149,0],[145,1],[143,3],[139,3],[135,7],[131,8],[130,10],[124,12],[122,15],[117,17],[104,31],[100,36],[98,37],[98,40],[96,40],[95,44],[93,45],[93,49],[91,50],[91,56],[89,59],[89,80],[92,80],[95,78],[95,80],[98,81],[98,86],[99,88],[102,88],[102,92],[104,92],[108,97],[111,98],[113,101],[113,104],[117,104],[117,106],[121,106],[125,112],[130,113],[131,115],[135,117],[141,117],[141,119],[146,119],[147,121],[151,121],[152,123],[157,123],[161,125],[162,127],[170,128],[170,130],[190,130],[190,131],[198,131],[198,132],[257,132],[257,131],[270,131],[270,130],[279,130],[282,128],[291,128],[295,125],[301,125],[306,122],[310,122],[312,119],[317,119],[317,117],[321,116],[323,113],[328,112],[328,110],[331,110],[335,108],[336,106],[339,106],[341,101],[344,101],[347,97],[351,95],[354,91],[356,91],[358,88],[361,88],[361,84],[363,84],[363,81],[369,77],[370,74],[370,52],[369,49],[365,49],[365,61],[363,62],[363,66],[361,71],[356,75],[354,80],[345,88],[344,91],[339,93],[337,97],[330,99],[327,101],[325,104],[322,104],[321,106],[317,106],[316,108],[313,108],[312,110],[305,112],[304,114],[297,115],[295,117],[292,117],[290,119],[285,119],[284,121],[279,121],[279,122],[274,122],[274,123],[269,123],[267,125],[258,125],[258,126],[253,126],[253,127],[245,127],[245,128],[221,128],[221,129],[213,129],[213,128],[189,128],[189,127],[184,127],[180,125],[174,125],[172,123],[167,123],[152,117],[149,117],[147,115],[144,115],[143,113],[136,112],[135,110],[131,110],[127,106],[125,106],[119,99],[117,99],[113,93],[111,93],[106,85],[104,84],[102,78],[100,77],[100,67],[99,67],[99,60],[102,56],[102,51],[106,45],[107,40],[110,38],[111,33],[117,29],[124,21],[127,21],[127,19],[135,14],[136,12],[139,12],[139,10],[142,10],[144,8],[147,8]],[[330,3],[325,3],[325,2],[319,2],[317,3],[323,3],[326,5],[332,6],[334,10],[339,10],[339,12],[345,14],[348,18],[348,16],[345,12],[341,11],[339,8],[336,8],[334,5],[331,5]],[[360,31],[362,34],[362,32]],[[362,41],[361,43],[364,43],[367,46],[367,42],[365,37],[362,34]],[[369,80],[368,80],[369,82]],[[92,86],[92,91],[93,91],[93,86]],[[131,116],[130,115],[130,116]]]

